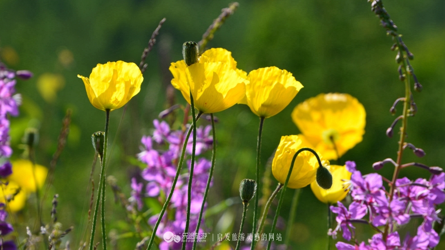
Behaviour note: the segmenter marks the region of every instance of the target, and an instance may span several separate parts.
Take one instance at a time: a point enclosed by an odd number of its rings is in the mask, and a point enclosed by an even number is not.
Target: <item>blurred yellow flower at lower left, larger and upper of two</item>
[[[17,183],[26,193],[36,191],[36,182],[34,181],[32,162],[25,159],[12,161],[12,174],[8,180]],[[35,165],[35,174],[39,189],[45,184],[48,169],[42,165]]]

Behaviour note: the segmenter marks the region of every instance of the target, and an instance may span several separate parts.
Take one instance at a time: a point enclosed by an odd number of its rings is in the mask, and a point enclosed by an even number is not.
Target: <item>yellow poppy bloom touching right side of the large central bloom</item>
[[[280,113],[303,88],[292,73],[277,67],[252,70],[247,80],[245,98],[240,103],[264,118]]]

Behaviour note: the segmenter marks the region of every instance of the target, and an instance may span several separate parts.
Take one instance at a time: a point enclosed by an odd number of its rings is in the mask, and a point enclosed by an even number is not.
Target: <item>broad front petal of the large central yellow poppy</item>
[[[245,79],[222,62],[197,63],[186,69],[195,107],[216,113],[238,103],[245,95]]]

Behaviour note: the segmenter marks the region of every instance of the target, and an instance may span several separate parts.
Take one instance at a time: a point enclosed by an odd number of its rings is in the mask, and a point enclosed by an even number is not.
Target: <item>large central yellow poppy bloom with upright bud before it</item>
[[[236,68],[231,52],[211,48],[189,67],[184,60],[172,63],[172,85],[190,104],[192,91],[195,107],[203,113],[216,113],[232,107],[245,95],[246,73]]]

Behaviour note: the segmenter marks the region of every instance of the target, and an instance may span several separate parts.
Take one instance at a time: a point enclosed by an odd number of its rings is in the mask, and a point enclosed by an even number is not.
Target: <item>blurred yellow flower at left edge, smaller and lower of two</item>
[[[20,186],[16,182],[12,181],[9,181],[8,185],[1,184],[1,187],[2,188],[0,188],[0,203],[6,204],[9,207],[9,209],[11,209],[11,212],[17,212],[22,210],[22,208],[26,203],[26,196],[27,196],[26,191],[20,189]],[[12,195],[14,194],[16,194],[14,196],[14,199],[7,202],[6,199],[10,199],[10,197],[12,197]]]

